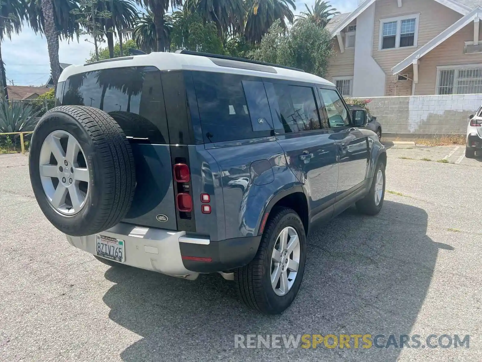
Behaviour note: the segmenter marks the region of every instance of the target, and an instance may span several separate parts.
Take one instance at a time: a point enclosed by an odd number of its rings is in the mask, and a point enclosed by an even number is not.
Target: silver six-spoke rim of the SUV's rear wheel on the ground
[[[285,227],[278,235],[271,255],[271,286],[277,295],[285,295],[293,287],[300,254],[298,233],[291,226]]]

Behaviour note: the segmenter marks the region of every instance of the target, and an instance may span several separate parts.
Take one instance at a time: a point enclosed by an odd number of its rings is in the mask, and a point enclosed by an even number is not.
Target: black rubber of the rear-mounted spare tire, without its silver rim
[[[67,131],[77,139],[90,172],[85,205],[71,216],[53,207],[40,180],[40,149],[56,130]],[[129,141],[112,117],[91,107],[56,107],[40,119],[30,145],[29,171],[40,209],[67,235],[86,236],[109,229],[124,218],[134,197],[134,156]]]

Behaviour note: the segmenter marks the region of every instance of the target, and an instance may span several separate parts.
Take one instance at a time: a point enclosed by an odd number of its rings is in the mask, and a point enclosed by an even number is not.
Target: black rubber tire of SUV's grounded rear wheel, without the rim
[[[289,292],[277,295],[271,286],[271,255],[281,230],[293,227],[300,242],[300,262],[295,282]],[[300,217],[293,209],[279,208],[271,211],[259,249],[253,261],[234,271],[236,290],[248,307],[266,314],[280,314],[291,305],[298,293],[306,263],[306,234]]]

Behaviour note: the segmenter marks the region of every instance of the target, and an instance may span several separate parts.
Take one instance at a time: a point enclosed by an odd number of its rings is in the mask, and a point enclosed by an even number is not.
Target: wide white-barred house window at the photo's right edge
[[[437,67],[437,94],[482,93],[482,64]]]

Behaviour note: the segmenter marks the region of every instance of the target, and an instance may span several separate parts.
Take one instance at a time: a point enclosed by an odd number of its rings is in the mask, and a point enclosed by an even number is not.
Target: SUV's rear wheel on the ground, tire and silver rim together
[[[253,261],[234,272],[241,301],[266,314],[280,314],[295,299],[305,272],[306,234],[293,209],[271,211]]]

